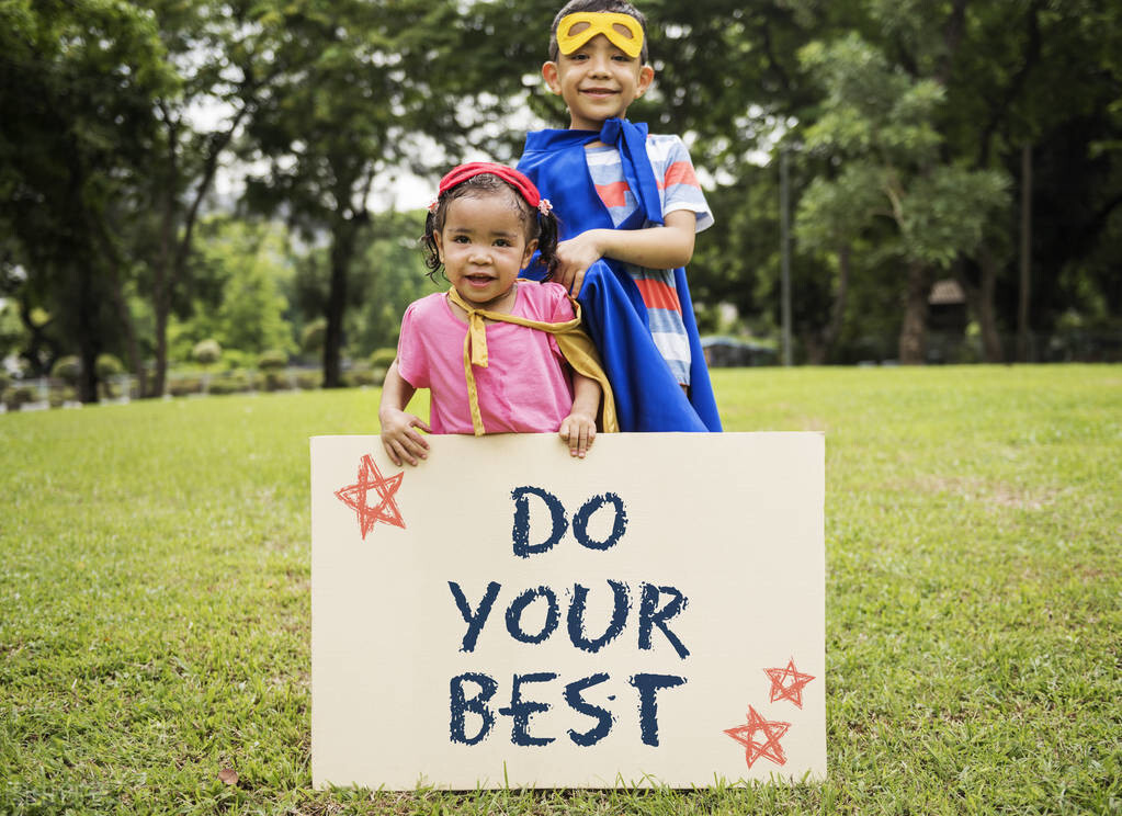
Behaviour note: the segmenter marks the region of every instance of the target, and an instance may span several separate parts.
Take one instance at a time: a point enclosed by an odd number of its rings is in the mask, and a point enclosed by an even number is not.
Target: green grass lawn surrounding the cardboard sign
[[[728,430],[827,434],[826,782],[313,791],[307,438],[376,432],[350,391],[0,416],[0,814],[1122,813],[1122,367],[715,381]]]

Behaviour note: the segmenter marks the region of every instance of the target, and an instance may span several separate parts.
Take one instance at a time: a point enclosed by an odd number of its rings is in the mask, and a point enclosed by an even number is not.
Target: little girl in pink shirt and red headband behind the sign
[[[414,302],[402,319],[378,411],[395,465],[427,456],[417,429],[559,432],[570,455],[583,458],[601,391],[604,430],[616,430],[607,378],[574,302],[560,284],[518,279],[535,249],[548,268],[557,265],[551,209],[528,178],[503,165],[475,162],[441,180],[422,240],[430,276],[443,268],[452,287]],[[405,412],[417,388],[431,392],[427,424]]]

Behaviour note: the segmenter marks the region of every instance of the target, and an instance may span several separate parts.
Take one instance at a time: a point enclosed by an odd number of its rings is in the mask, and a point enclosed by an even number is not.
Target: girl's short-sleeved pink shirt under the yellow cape
[[[572,320],[572,304],[557,283],[518,281],[511,313],[559,323]],[[433,433],[473,433],[463,338],[468,324],[448,296],[415,301],[402,318],[397,368],[410,385],[431,392]],[[476,366],[479,413],[487,433],[552,433],[572,410],[569,366],[552,334],[512,323],[487,323],[488,366]]]

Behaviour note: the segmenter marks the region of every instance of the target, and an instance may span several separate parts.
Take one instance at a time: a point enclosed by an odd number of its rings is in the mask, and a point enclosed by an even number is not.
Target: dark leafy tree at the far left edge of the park
[[[0,227],[24,269],[16,297],[36,350],[52,341],[31,315],[50,315],[53,342],[81,358],[80,398],[94,402],[98,355],[130,331],[110,213],[139,183],[171,73],[150,15],[118,0],[4,3],[0,52]]]

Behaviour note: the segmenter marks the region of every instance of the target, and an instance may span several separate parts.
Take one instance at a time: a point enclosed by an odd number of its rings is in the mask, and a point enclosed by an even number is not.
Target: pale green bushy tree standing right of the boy
[[[942,158],[944,140],[934,125],[945,100],[938,82],[894,68],[857,35],[808,45],[802,59],[826,90],[822,114],[807,129],[807,147],[845,167],[839,181],[819,180],[816,198],[825,198],[830,185],[858,202],[877,193],[880,207],[872,214],[892,223],[891,251],[907,271],[899,358],[922,363],[934,272],[977,249],[985,224],[1008,203],[1008,181],[997,171]]]

